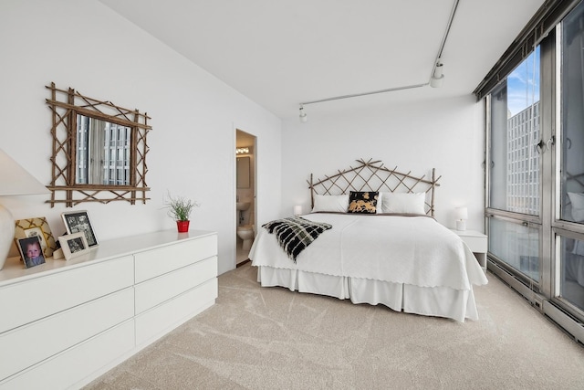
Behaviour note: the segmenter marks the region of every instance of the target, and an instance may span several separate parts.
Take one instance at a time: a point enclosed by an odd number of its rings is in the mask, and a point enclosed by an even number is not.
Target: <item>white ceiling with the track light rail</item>
[[[429,81],[455,0],[99,0],[276,116]],[[472,93],[544,0],[460,0],[443,87],[305,105],[308,116]]]

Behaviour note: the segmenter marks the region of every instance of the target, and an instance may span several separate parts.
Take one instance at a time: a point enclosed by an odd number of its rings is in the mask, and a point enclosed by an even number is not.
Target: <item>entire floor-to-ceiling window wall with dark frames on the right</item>
[[[522,34],[475,90],[490,120],[489,267],[582,341],[584,2],[546,2]]]

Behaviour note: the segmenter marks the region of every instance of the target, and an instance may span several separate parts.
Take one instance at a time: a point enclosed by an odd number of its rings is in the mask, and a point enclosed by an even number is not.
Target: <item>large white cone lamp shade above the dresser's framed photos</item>
[[[49,191],[0,149],[0,196],[35,194],[49,194]]]

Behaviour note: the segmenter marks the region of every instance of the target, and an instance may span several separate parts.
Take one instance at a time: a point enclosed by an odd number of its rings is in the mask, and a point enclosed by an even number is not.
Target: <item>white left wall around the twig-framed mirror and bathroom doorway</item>
[[[100,240],[175,228],[162,209],[171,191],[201,203],[191,229],[217,231],[219,272],[234,268],[235,128],[258,137],[258,218],[279,214],[281,121],[98,1],[3,0],[0,55],[0,148],[43,184],[51,180],[51,81],[151,116],[151,201],[73,208],[89,211]],[[60,214],[72,209],[47,199],[2,202],[16,219],[46,216],[61,234]]]

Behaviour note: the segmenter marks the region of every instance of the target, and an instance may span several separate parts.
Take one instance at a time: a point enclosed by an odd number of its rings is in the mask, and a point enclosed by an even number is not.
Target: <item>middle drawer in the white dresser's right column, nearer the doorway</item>
[[[205,258],[183,269],[177,269],[159,278],[146,280],[135,286],[136,314],[147,311],[165,300],[217,277],[217,258]]]

